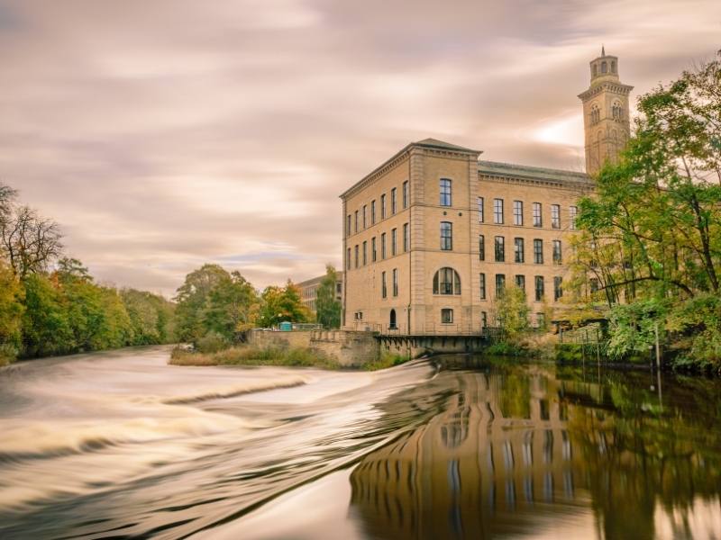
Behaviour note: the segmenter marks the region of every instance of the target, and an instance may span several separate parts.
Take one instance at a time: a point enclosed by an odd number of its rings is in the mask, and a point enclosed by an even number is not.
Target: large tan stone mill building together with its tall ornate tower
[[[593,174],[628,137],[631,87],[605,51],[590,66],[580,98]],[[480,154],[413,142],[342,193],[345,327],[473,334],[495,324],[507,284],[525,290],[535,324],[561,300],[576,202],[592,177]]]

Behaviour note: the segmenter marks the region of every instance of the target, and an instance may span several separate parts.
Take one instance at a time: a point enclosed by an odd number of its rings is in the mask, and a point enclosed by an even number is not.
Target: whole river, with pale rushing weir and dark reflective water
[[[721,539],[716,381],[168,357],[0,370],[0,538]]]

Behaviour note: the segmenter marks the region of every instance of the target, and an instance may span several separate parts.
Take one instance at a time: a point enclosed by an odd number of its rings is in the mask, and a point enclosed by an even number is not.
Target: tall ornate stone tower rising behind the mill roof
[[[618,58],[606,54],[591,60],[591,85],[579,94],[586,132],[586,172],[594,175],[606,161],[614,162],[631,134],[628,94],[633,86],[621,84]]]

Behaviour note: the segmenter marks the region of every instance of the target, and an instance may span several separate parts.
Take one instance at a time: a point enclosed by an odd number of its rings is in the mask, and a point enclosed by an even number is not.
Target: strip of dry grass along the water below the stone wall
[[[340,365],[308,348],[229,347],[214,353],[198,353],[175,348],[170,355],[171,365],[278,365],[285,367],[318,367],[338,369]]]

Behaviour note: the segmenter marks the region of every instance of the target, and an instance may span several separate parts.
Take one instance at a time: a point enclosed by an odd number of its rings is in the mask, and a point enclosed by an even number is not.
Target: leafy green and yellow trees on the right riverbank
[[[571,285],[606,306],[610,356],[647,354],[658,328],[674,365],[721,373],[721,51],[638,109],[619,162],[580,201]]]

